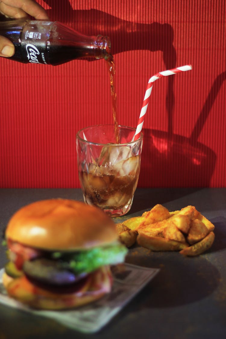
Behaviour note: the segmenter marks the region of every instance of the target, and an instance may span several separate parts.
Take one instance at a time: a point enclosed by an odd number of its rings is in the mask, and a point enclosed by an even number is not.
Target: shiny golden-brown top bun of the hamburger
[[[116,225],[103,211],[67,199],[41,200],[18,210],[6,238],[44,250],[85,250],[118,239]]]

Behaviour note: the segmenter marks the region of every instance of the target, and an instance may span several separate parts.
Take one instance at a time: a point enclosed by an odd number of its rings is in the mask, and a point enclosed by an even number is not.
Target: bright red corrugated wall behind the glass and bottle
[[[46,0],[51,20],[108,35],[119,124],[136,127],[148,79],[140,187],[226,186],[224,0]],[[104,60],[60,66],[0,58],[0,187],[80,187],[76,132],[112,123]]]

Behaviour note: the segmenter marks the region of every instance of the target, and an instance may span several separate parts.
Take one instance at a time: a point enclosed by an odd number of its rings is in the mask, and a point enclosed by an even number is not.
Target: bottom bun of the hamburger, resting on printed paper
[[[89,274],[79,289],[75,287],[75,292],[52,292],[50,288],[35,285],[25,276],[13,279],[6,273],[3,274],[2,281],[9,296],[42,310],[63,310],[82,306],[109,293],[112,286],[109,266],[103,266]]]

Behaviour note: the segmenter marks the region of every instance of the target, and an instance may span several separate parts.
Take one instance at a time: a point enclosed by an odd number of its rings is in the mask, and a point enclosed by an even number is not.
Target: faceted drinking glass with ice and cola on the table
[[[84,201],[111,217],[126,214],[137,188],[143,134],[132,141],[135,128],[96,125],[81,129],[76,136],[79,180]]]

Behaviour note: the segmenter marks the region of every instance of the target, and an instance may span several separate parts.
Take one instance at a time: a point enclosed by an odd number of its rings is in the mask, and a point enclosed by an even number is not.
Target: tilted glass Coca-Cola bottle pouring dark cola
[[[7,59],[23,63],[59,65],[74,59],[111,56],[108,37],[86,36],[57,21],[4,21],[0,22],[0,35],[15,46],[15,54]]]

